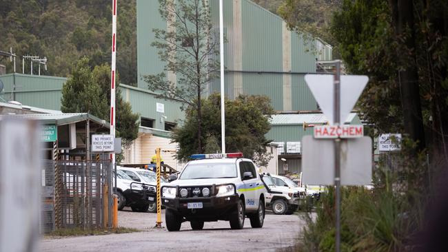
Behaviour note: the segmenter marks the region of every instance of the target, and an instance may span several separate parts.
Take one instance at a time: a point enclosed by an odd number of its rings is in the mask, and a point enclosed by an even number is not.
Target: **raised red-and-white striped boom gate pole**
[[[111,71],[110,71],[110,134],[115,138],[115,114],[116,114],[116,108],[115,108],[115,76],[116,76],[116,69],[115,69],[115,62],[116,62],[116,12],[117,12],[117,6],[116,6],[117,0],[112,0],[112,63]],[[112,160],[112,167],[115,166],[115,154],[110,154],[110,159]]]

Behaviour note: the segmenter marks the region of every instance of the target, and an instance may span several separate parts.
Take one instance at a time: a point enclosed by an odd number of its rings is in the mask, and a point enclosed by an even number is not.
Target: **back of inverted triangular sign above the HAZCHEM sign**
[[[306,74],[305,81],[316,98],[320,109],[334,125],[334,76],[332,74]],[[340,76],[340,123],[345,123],[350,111],[364,90],[369,77],[365,75]]]

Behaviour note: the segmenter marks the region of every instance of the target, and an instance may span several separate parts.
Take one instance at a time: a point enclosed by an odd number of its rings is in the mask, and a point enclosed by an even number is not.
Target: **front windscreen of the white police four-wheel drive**
[[[234,163],[205,163],[187,165],[181,174],[180,180],[199,178],[236,178],[236,165]]]

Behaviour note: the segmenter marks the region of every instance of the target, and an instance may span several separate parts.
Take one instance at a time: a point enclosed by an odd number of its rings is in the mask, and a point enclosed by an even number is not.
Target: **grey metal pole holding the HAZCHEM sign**
[[[340,61],[334,75],[334,124],[340,125]],[[334,185],[336,185],[336,252],[340,251],[340,138],[334,140]]]

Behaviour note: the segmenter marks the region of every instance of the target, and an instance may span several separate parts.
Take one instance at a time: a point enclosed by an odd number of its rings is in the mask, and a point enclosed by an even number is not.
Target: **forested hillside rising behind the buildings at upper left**
[[[82,56],[89,57],[90,65],[110,63],[111,5],[110,0],[0,0],[0,50],[9,51],[12,47],[17,56],[46,56],[48,71],[41,70],[41,74],[51,76],[68,76]],[[117,20],[116,67],[122,81],[134,85],[135,0],[119,1]],[[21,58],[17,61],[19,72]],[[5,59],[2,62],[12,70],[12,63]],[[26,63],[26,73],[29,72],[30,64]]]

